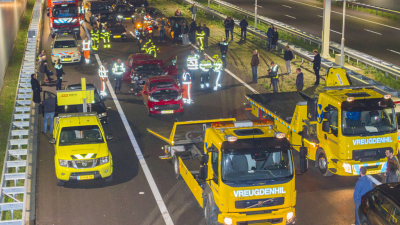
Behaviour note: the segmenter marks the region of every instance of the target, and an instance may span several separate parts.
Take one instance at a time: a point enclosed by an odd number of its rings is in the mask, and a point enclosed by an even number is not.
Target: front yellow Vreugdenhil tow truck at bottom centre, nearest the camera
[[[148,131],[168,143],[160,158],[172,159],[208,225],[295,222],[292,150],[271,120],[175,122],[169,138]]]

